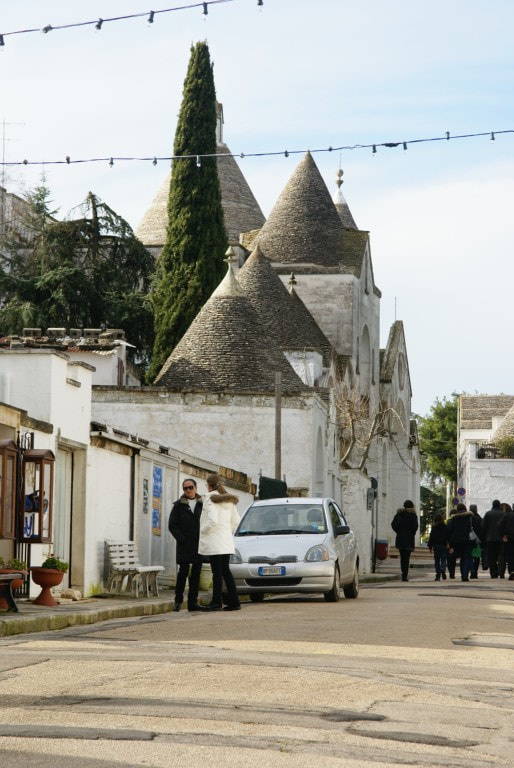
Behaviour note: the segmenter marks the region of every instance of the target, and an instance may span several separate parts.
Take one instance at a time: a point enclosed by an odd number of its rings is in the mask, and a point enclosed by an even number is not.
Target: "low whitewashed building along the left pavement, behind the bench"
[[[168,516],[182,480],[220,472],[244,509],[255,489],[240,472],[196,458],[144,434],[91,422],[94,368],[50,349],[0,348],[0,440],[33,436],[36,449],[55,456],[51,541],[23,550],[30,565],[50,553],[70,563],[63,586],[85,595],[103,591],[105,541],[135,539],[143,564],[164,566],[162,581],[175,580],[175,542]],[[9,559],[13,537],[0,538]],[[34,593],[37,588],[32,585]]]

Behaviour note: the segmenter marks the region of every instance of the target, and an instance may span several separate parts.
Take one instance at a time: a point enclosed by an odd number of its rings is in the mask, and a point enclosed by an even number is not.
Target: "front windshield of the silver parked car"
[[[321,504],[266,504],[250,507],[235,535],[269,536],[326,532],[327,524]]]

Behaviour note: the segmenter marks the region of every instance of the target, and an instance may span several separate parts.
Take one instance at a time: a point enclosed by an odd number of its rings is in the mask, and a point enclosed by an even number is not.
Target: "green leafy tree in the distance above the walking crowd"
[[[436,399],[430,414],[420,417],[420,450],[432,480],[457,480],[457,398]]]

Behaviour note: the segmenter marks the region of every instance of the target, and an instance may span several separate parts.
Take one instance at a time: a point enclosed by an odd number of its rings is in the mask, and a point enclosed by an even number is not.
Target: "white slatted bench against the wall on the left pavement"
[[[158,596],[157,574],[164,570],[162,565],[141,565],[134,541],[112,541],[108,539],[109,555],[108,592],[135,592],[139,597],[142,588],[145,597],[150,597],[150,590]]]

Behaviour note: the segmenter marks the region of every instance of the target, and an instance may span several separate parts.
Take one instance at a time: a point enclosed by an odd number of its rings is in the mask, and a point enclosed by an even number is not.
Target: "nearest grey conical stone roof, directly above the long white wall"
[[[275,391],[307,387],[269,337],[232,268],[200,310],[155,380],[175,392]]]

